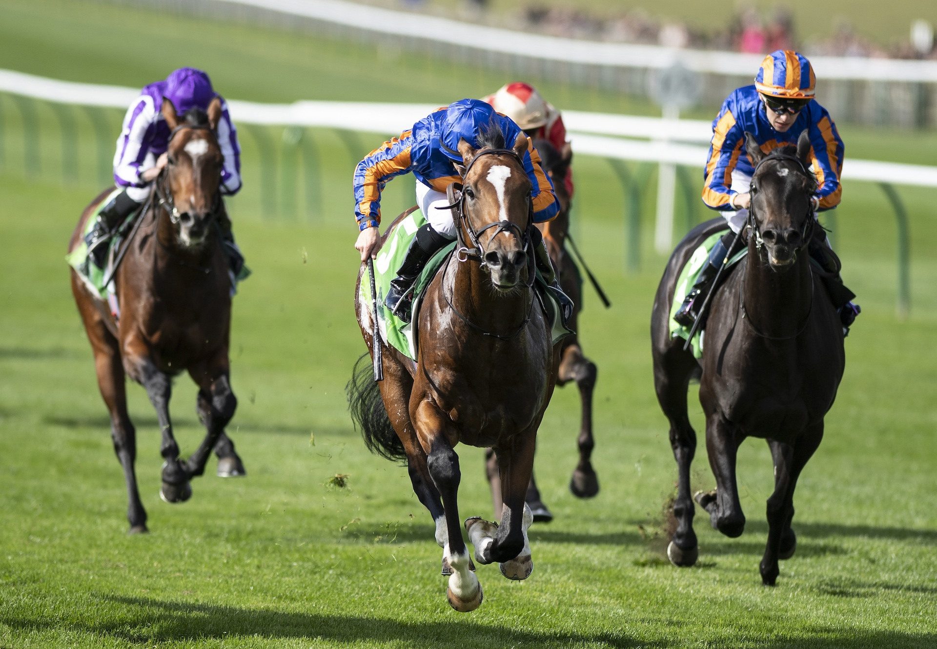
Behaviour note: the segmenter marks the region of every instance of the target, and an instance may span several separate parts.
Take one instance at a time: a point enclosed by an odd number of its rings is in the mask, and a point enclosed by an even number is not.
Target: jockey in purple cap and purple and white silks
[[[186,111],[194,109],[206,111],[216,96],[221,99],[221,117],[218,119],[216,136],[224,156],[220,190],[222,195],[231,196],[241,189],[241,147],[237,131],[231,124],[228,103],[217,95],[208,75],[194,67],[180,67],[165,81],[144,86],[140,96],[126,111],[114,153],[114,183],[123,187],[124,191],[101,208],[95,229],[87,237],[89,253],[98,266],[103,266],[107,251],[107,245],[102,243],[109,242],[113,230],[149,198],[153,181],[166,166],[166,149],[171,134],[160,111],[163,99],[169,99],[176,113],[182,116]],[[234,243],[227,213],[222,210],[218,216],[226,252],[231,257],[232,266],[237,266],[232,269],[236,274],[243,264],[243,258]]]

